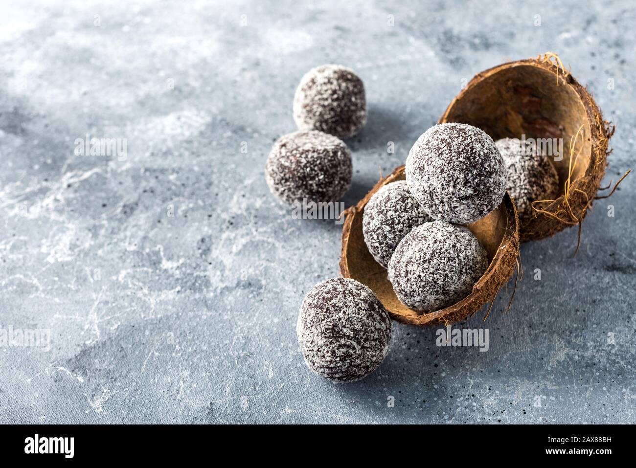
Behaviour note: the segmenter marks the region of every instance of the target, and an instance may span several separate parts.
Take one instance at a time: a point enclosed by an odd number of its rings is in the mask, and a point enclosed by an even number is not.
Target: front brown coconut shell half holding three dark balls
[[[402,180],[404,180],[404,166],[398,167],[390,176],[381,178],[356,206],[347,211],[347,219],[342,230],[340,274],[370,287],[387,308],[391,317],[405,324],[446,325],[466,319],[487,303],[490,303],[492,308],[495,297],[501,288],[506,286],[515,270],[517,275],[520,273],[518,218],[511,198],[506,194],[497,209],[480,221],[467,226],[485,247],[490,260],[488,269],[473,286],[473,292],[450,307],[422,314],[411,310],[397,299],[391,282],[387,278],[387,270],[371,256],[364,243],[362,231],[364,207],[371,196],[385,184]],[[514,292],[508,307],[513,297]]]

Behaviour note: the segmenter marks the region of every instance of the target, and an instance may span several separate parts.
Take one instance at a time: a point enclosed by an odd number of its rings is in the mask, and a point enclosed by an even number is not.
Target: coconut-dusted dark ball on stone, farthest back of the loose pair
[[[357,134],[366,122],[362,80],[342,65],[311,69],[296,89],[294,121],[300,130],[320,130],[340,138]]]

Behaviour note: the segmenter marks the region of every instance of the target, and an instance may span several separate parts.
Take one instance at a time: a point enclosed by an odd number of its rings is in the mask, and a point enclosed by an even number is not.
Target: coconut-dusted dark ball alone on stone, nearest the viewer
[[[333,382],[354,382],[375,370],[389,352],[391,318],[364,284],[334,278],[308,292],[296,334],[315,373]]]

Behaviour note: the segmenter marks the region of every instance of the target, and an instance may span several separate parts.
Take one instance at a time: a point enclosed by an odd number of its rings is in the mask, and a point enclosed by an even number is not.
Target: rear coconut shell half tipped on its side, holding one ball
[[[533,217],[520,224],[519,237],[527,242],[580,226],[603,178],[614,130],[557,55],[546,53],[476,74],[439,119],[446,122],[474,125],[495,141],[522,135],[562,139],[564,154],[553,151],[550,157],[561,191],[555,200],[534,203]]]

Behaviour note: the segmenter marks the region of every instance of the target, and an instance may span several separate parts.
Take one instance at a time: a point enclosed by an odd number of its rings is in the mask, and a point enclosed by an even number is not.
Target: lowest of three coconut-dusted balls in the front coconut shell
[[[488,256],[464,226],[432,221],[408,233],[389,262],[397,298],[417,312],[434,312],[465,298],[488,268]]]

